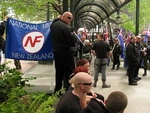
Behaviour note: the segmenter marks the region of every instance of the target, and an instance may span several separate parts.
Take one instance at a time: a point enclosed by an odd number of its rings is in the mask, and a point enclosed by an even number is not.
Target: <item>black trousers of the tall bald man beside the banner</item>
[[[67,91],[70,86],[68,78],[75,68],[74,56],[64,52],[54,52],[54,59],[56,69],[54,92],[56,93],[62,88],[62,83]]]

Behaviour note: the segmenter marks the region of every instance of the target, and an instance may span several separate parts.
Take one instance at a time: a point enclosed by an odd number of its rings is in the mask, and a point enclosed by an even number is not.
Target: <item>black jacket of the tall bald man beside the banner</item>
[[[58,19],[50,27],[53,52],[67,52],[68,48],[75,47],[77,37],[70,25]]]

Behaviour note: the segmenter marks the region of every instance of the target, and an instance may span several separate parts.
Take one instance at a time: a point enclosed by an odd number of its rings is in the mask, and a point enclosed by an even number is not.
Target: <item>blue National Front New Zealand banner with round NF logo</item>
[[[5,57],[18,60],[53,60],[50,25],[8,18]]]

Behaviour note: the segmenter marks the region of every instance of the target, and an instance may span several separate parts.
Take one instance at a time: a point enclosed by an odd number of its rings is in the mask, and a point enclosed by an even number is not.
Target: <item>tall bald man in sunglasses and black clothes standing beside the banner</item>
[[[68,78],[75,68],[74,55],[77,52],[75,46],[77,37],[70,26],[72,19],[71,12],[64,12],[61,19],[53,22],[50,27],[56,69],[54,93],[61,90],[62,82],[66,91],[68,90],[70,86]]]

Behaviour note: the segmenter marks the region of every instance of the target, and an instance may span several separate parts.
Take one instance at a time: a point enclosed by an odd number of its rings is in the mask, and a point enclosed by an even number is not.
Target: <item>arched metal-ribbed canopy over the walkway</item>
[[[77,28],[87,29],[96,25],[119,10],[131,0],[74,0],[74,19]]]

